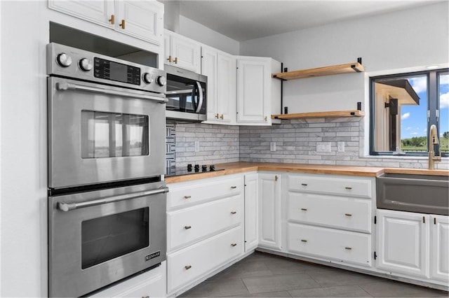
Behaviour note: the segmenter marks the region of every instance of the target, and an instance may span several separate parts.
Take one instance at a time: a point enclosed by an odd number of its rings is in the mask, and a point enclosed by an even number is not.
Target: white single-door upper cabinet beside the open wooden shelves
[[[237,123],[272,125],[281,113],[281,82],[272,73],[281,63],[266,57],[237,57]]]

